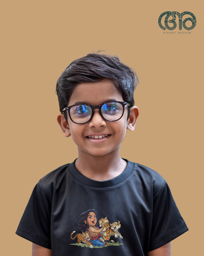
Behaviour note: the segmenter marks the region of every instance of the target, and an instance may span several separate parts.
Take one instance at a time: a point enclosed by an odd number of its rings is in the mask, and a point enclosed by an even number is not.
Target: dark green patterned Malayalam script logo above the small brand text
[[[164,15],[166,15],[165,20],[164,20],[165,27],[162,25],[162,18],[163,18]],[[184,15],[190,15],[191,17],[186,17],[183,20]],[[182,27],[185,28],[186,30],[191,30],[194,27],[196,27],[196,17],[192,12],[182,12],[182,13],[179,13],[179,12],[163,12],[160,15],[160,17],[158,18],[158,24],[159,24],[160,28],[162,28],[163,30],[166,30],[166,28],[168,30],[174,30],[177,27],[176,16],[178,16],[179,30],[182,30]],[[171,20],[169,20],[170,17],[172,17]],[[190,21],[192,23],[191,27],[186,26],[187,21]],[[169,23],[173,24],[173,26],[169,26]]]

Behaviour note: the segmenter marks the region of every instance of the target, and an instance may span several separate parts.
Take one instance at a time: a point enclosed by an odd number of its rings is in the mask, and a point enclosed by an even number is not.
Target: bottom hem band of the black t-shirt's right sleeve
[[[167,243],[170,243],[172,240],[174,240],[178,236],[182,235],[186,231],[188,231],[188,227],[186,226],[186,223],[183,223],[178,228],[176,228],[176,230],[174,230],[174,233],[172,231],[172,233],[169,233],[169,234],[162,236],[161,238],[158,238],[157,240],[153,241],[152,242],[153,245],[149,246],[148,251],[153,251]]]

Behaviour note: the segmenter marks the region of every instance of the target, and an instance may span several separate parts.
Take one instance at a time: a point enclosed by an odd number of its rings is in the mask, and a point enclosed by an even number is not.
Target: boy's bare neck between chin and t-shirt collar
[[[106,156],[83,156],[78,155],[75,161],[77,170],[91,180],[104,181],[111,180],[120,175],[126,168],[127,162],[120,156],[113,157],[112,154]]]

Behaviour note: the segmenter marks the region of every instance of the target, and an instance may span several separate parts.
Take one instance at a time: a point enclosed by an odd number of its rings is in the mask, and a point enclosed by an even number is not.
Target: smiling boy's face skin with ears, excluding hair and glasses
[[[100,105],[106,101],[124,101],[113,81],[109,79],[77,85],[73,90],[68,106],[78,103]],[[58,116],[58,123],[66,137],[72,136],[73,141],[78,147],[79,157],[119,154],[126,130],[127,128],[134,130],[139,114],[138,108],[134,106],[131,108],[130,118],[127,120],[127,108],[125,106],[124,115],[118,121],[110,122],[104,120],[99,113],[99,109],[95,109],[94,115],[88,123],[73,123],[68,116],[68,126],[63,115]],[[135,124],[132,124],[130,121],[132,114],[135,116]],[[103,138],[91,138],[93,136],[103,136]]]

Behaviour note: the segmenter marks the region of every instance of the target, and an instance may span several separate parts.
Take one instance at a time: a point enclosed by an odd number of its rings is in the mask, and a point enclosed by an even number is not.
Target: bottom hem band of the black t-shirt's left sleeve
[[[51,249],[51,244],[50,242],[47,241],[47,239],[45,239],[44,237],[39,237],[36,234],[30,233],[27,230],[18,227],[16,230],[16,234],[18,236],[21,236],[22,238],[25,238],[26,240],[34,243],[34,244],[38,244],[42,247],[45,247],[47,249]]]

